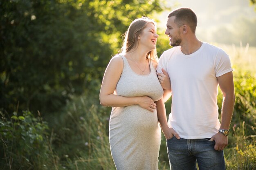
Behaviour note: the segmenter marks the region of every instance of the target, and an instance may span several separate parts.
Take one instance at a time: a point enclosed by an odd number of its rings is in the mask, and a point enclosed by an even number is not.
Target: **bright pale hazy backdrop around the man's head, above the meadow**
[[[172,7],[190,7],[198,17],[197,37],[205,42],[256,46],[256,12],[247,0],[168,0]],[[174,4],[174,6],[173,6]],[[165,29],[164,11],[156,17]]]

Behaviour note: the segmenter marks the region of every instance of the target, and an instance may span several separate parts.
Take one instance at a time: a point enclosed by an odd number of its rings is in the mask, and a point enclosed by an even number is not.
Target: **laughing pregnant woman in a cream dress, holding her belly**
[[[161,129],[156,101],[163,89],[156,74],[156,23],[138,18],[124,35],[119,54],[106,68],[100,92],[101,105],[112,106],[112,158],[117,170],[158,170]]]

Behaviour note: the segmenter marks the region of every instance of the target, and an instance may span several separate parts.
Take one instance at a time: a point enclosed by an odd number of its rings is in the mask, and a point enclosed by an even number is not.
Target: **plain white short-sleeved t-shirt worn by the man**
[[[206,42],[190,55],[176,46],[161,55],[157,72],[162,68],[171,80],[168,125],[184,139],[211,138],[220,128],[217,77],[232,71],[229,56]]]

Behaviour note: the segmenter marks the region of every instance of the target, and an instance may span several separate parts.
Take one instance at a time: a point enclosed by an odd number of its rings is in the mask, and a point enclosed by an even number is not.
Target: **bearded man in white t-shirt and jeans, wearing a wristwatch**
[[[172,11],[166,26],[173,48],[161,55],[157,72],[164,102],[172,96],[168,125],[166,115],[158,116],[171,170],[196,170],[196,162],[200,170],[225,170],[223,149],[235,102],[229,56],[196,38],[197,17],[190,8]],[[218,85],[223,93],[221,123]]]

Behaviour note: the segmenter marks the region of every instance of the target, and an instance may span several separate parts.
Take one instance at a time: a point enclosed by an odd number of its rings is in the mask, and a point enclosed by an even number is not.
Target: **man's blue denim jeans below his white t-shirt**
[[[214,150],[215,141],[207,139],[166,140],[171,170],[225,170],[222,151]]]

